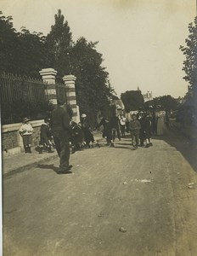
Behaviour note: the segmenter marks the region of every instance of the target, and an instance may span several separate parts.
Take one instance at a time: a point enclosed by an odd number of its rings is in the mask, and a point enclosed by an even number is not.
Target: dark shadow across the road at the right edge
[[[189,138],[184,137],[180,131],[170,130],[167,131],[165,136],[153,136],[155,140],[164,140],[166,143],[176,148],[179,151],[185,160],[187,160],[194,169],[194,172],[197,172],[197,146],[194,142],[190,141]]]

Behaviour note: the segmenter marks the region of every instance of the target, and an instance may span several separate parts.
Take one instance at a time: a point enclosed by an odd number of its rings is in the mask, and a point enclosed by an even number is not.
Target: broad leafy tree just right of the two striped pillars
[[[88,43],[79,38],[70,54],[71,72],[76,75],[76,99],[81,112],[87,113],[94,121],[96,113],[109,105],[113,89],[108,73],[102,67],[102,55],[96,50],[98,42]]]

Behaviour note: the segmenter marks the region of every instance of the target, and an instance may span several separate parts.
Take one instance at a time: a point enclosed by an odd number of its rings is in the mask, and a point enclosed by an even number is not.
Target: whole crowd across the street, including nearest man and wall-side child
[[[125,133],[130,132],[132,137],[132,149],[137,149],[139,146],[149,148],[152,146],[151,131],[155,125],[155,117],[157,121],[157,130],[161,129],[161,117],[157,117],[149,111],[139,111],[138,114],[132,114],[130,120],[126,119],[122,114],[113,114],[110,118],[104,115],[98,115],[98,129],[103,125],[103,137],[106,139],[106,146],[115,147],[115,137],[121,141],[121,137],[125,137]],[[33,128],[30,124],[30,119],[25,118],[23,125],[20,127],[20,135],[23,138],[25,153],[31,153],[31,135]],[[160,131],[161,133],[161,131]],[[145,143],[145,144],[144,144]],[[37,146],[37,151],[42,154],[45,150],[52,153],[52,148],[56,148],[59,154],[59,173],[70,172],[72,166],[70,160],[70,144],[72,153],[83,148],[93,148],[93,145],[98,145],[95,142],[91,126],[87,122],[85,113],[81,116],[81,122],[76,123],[70,121],[70,116],[65,109],[65,102],[58,101],[58,106],[53,110],[51,119],[45,119],[41,126],[40,143]]]

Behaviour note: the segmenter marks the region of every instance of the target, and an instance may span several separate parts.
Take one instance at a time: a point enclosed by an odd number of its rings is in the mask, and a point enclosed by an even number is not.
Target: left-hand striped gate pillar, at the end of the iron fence
[[[48,96],[48,100],[52,102],[54,106],[57,106],[57,95],[55,88],[55,76],[57,71],[53,68],[43,68],[40,72],[43,82],[47,83],[45,94]]]

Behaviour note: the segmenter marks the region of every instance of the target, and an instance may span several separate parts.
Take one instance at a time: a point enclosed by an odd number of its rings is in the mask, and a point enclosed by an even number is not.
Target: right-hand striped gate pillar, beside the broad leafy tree
[[[67,75],[64,76],[63,78],[65,82],[65,87],[67,89],[66,92],[66,97],[67,97],[67,102],[70,104],[70,107],[72,108],[73,111],[73,120],[78,123],[80,121],[79,117],[79,111],[77,110],[78,106],[76,106],[76,86],[75,86],[75,81],[76,77],[73,75]]]

